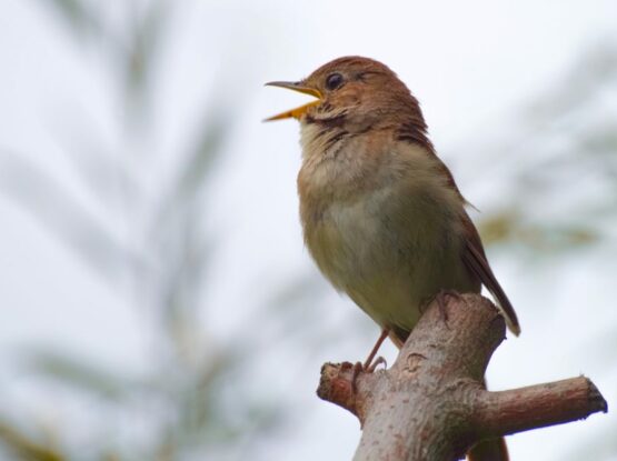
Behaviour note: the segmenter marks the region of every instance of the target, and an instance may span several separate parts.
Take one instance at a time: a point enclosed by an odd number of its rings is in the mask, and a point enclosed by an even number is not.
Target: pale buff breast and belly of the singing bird
[[[376,169],[370,180],[380,186],[345,200],[319,192],[336,190],[336,181],[354,172],[335,174],[337,163],[327,168],[301,178],[308,181],[300,190],[305,240],[321,272],[377,323],[410,331],[439,290],[470,290],[456,232],[462,206],[430,164],[379,181],[382,169]]]

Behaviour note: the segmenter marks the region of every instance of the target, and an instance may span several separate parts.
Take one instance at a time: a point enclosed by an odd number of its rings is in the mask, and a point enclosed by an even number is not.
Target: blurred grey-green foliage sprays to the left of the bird
[[[87,40],[108,60],[111,77],[123,82],[119,99],[128,116],[127,142],[142,136],[142,123],[152,110],[149,81],[172,3],[41,3],[61,20],[76,42]],[[118,8],[128,21],[110,19],[109,9]],[[54,428],[58,437],[49,439],[7,420],[0,425],[0,440],[17,459],[163,461],[205,449],[243,458],[252,441],[276,424],[278,409],[237,389],[241,385],[237,379],[242,365],[240,350],[221,349],[198,319],[200,290],[208,283],[205,273],[212,247],[211,235],[202,229],[201,217],[207,209],[201,193],[231,128],[220,107],[205,108],[205,113],[208,122],[198,121],[201,130],[181,157],[185,163],[153,203],[140,201],[139,168],[127,169],[97,139],[90,142],[97,149],[73,153],[74,166],[101,206],[113,207],[106,200],[107,183],[120,184],[125,200],[112,212],[135,231],[135,240],[140,242],[135,247],[119,241],[105,222],[87,212],[63,184],[40,167],[17,153],[1,152],[1,189],[6,194],[30,210],[115,290],[126,291],[129,278],[129,291],[138,298],[135,303],[149,319],[143,328],[152,330],[152,353],[158,361],[150,372],[127,377],[64,351],[31,350],[22,361],[41,380],[94,399],[101,405],[141,413],[156,435],[149,445],[130,441],[118,447],[101,433],[98,442],[83,452],[63,443],[63,432],[70,432],[70,427]],[[147,162],[148,156],[140,153],[135,157]],[[142,220],[143,214],[149,218]]]

